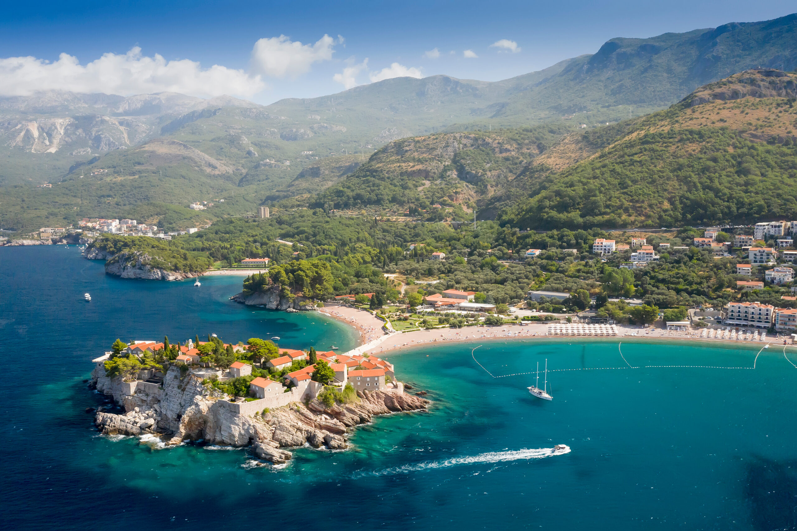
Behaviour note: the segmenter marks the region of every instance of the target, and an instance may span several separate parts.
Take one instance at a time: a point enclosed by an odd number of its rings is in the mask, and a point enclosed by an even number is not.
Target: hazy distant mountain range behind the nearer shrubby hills
[[[506,136],[520,142],[516,148],[527,140],[534,144],[520,148],[520,159],[512,163],[526,167],[561,136],[666,108],[701,85],[744,70],[795,69],[795,26],[792,14],[645,39],[614,38],[594,54],[505,81],[400,77],[268,106],[176,93],[0,98],[0,145],[7,149],[0,154],[0,203],[33,202],[0,212],[0,226],[22,230],[120,211],[151,212],[155,218],[168,212],[171,219],[194,222],[197,214],[187,204],[217,197],[226,199],[224,208],[204,215],[239,214],[265,201],[309,198],[334,188],[382,146],[388,144],[374,155],[378,159],[396,152],[398,144],[389,144],[395,140],[435,133],[470,135],[465,144],[478,146],[477,138],[489,138],[490,129],[512,128]],[[576,144],[571,148],[585,149],[583,142]],[[556,145],[554,153],[566,151]],[[470,155],[488,151],[481,145]],[[325,160],[331,156],[344,159]],[[465,155],[457,157],[455,164],[466,167]],[[556,168],[553,155],[546,160]],[[517,168],[494,162],[480,162],[492,164],[493,175],[465,182],[481,189],[463,190],[461,197],[479,199],[498,214],[512,195],[497,183]],[[434,190],[425,180],[419,186]],[[45,182],[53,188],[33,188]],[[333,188],[307,200],[323,203]]]

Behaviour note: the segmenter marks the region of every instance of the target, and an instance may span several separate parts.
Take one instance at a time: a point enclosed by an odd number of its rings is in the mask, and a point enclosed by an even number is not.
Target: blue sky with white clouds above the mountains
[[[0,94],[174,89],[267,104],[397,75],[497,81],[594,53],[611,37],[651,37],[795,10],[794,2],[781,0],[90,0],[37,2],[34,9],[16,2],[0,20]],[[218,68],[209,70],[213,65]]]

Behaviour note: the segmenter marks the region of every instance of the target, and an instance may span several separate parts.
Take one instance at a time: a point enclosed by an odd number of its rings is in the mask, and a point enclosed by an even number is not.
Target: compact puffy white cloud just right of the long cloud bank
[[[285,35],[262,38],[252,49],[252,69],[270,77],[297,77],[308,73],[313,63],[330,61],[333,46],[342,41],[326,34],[314,45],[291,41]]]

